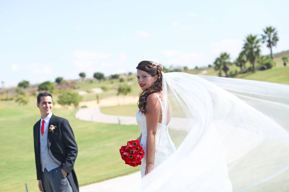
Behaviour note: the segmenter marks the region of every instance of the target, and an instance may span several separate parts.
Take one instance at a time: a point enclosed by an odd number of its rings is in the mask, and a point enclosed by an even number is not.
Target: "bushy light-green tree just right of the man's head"
[[[58,96],[57,103],[62,106],[70,106],[71,104],[74,107],[77,107],[79,102],[82,100],[82,97],[73,91],[64,91]]]

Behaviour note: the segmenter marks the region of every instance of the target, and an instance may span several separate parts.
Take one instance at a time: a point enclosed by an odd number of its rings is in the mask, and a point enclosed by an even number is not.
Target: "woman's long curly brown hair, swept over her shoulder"
[[[145,105],[146,105],[148,96],[151,95],[152,93],[155,93],[155,92],[163,90],[162,66],[161,65],[157,65],[157,64],[155,64],[152,61],[141,61],[136,68],[139,69],[139,70],[147,72],[151,76],[157,75],[156,82],[154,82],[154,84],[151,85],[151,87],[144,89],[144,91],[142,91],[139,94],[139,99],[138,99],[139,111],[141,113],[143,113],[143,114],[146,114],[147,110],[145,109]]]

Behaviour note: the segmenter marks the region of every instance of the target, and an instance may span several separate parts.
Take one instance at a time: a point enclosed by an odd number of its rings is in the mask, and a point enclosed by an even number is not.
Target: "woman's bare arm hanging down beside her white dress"
[[[154,94],[148,96],[145,108],[147,113],[147,164],[145,174],[147,174],[154,169],[154,153],[156,148],[155,135],[161,110],[160,102]]]

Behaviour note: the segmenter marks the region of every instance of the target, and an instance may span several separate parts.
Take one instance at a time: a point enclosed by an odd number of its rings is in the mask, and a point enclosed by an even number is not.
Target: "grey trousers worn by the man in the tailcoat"
[[[69,181],[63,176],[61,168],[57,167],[51,171],[46,168],[42,174],[42,185],[46,192],[73,192]]]

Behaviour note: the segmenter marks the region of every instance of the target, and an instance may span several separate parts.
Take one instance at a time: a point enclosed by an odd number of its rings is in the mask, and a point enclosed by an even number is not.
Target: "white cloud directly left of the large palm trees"
[[[230,54],[231,59],[235,59],[242,50],[244,41],[241,39],[222,39],[210,43],[210,51],[214,57],[218,57],[221,52]]]

